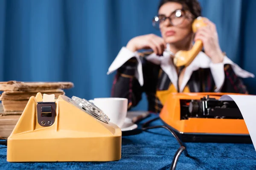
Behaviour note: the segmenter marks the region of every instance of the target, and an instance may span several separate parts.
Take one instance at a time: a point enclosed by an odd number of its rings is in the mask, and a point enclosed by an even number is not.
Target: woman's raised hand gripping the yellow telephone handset
[[[218,42],[216,26],[209,20],[205,20],[207,26],[201,27],[195,34],[195,41],[201,40],[204,44],[204,52],[213,63],[223,62],[223,54]]]

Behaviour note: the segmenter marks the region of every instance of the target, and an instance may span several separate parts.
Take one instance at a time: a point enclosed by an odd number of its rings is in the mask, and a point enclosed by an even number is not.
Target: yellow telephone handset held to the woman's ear
[[[192,23],[192,30],[193,32],[196,32],[198,28],[203,27],[203,26],[207,26],[204,23],[204,20],[206,18],[204,17],[198,17],[197,19],[194,20],[194,22]],[[178,51],[175,54],[175,57],[173,59],[174,64],[177,67],[180,66],[188,66],[193,59],[195,59],[195,57],[198,55],[198,53],[203,49],[203,42],[201,40],[196,40],[195,44],[193,45],[192,49],[189,51]]]

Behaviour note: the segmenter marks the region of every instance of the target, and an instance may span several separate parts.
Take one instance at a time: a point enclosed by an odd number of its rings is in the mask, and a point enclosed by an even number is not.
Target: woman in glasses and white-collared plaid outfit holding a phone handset
[[[160,29],[162,37],[134,37],[119,51],[108,72],[117,70],[111,96],[127,98],[131,108],[145,92],[148,111],[159,113],[172,92],[247,94],[239,77],[254,75],[239,68],[221,51],[215,24],[210,20],[193,33],[192,22],[200,16],[198,0],[161,0],[153,26]],[[204,52],[178,74],[173,56],[177,51],[191,49],[195,40],[203,42]],[[153,53],[139,53],[141,49],[151,49]]]

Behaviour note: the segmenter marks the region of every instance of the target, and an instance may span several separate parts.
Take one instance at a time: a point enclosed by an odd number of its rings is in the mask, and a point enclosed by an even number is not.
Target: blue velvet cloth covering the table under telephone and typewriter
[[[154,115],[146,120],[153,117]],[[151,125],[162,125],[162,122],[157,120]],[[253,144],[185,144],[193,158],[182,154],[177,163],[177,170],[256,169],[256,151]],[[122,158],[112,162],[10,163],[6,161],[6,147],[0,145],[0,169],[166,170],[170,168],[178,148],[179,144],[175,138],[164,129],[123,136]]]

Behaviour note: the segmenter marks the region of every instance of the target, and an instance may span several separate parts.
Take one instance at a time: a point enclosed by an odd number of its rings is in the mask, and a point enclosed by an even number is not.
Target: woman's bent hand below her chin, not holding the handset
[[[151,48],[155,54],[162,55],[166,48],[166,43],[163,38],[158,37],[157,35],[147,34],[134,37],[127,43],[126,48],[132,52]]]

